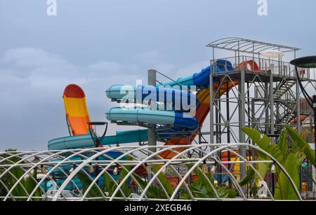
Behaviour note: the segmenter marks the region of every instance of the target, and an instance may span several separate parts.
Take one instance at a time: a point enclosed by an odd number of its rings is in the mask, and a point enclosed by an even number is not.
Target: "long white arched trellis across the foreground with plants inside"
[[[235,151],[240,147],[258,151],[270,159],[248,160]],[[154,152],[152,148],[155,148]],[[229,151],[235,155],[235,160],[229,162],[220,160],[218,155],[223,151]],[[164,152],[175,155],[171,159],[165,159],[161,156]],[[192,152],[198,152],[202,156],[188,156],[192,155]],[[111,153],[117,153],[117,156],[112,158]],[[254,170],[258,179],[264,181],[255,167],[260,162],[273,163],[279,167],[288,177],[298,199],[302,200],[298,188],[286,169],[269,153],[250,144],[117,146],[63,151],[1,152],[0,200],[181,200],[183,193],[187,194],[186,200],[187,198],[190,200],[232,200],[220,195],[218,185],[213,183],[207,171],[201,168],[202,165],[206,165],[208,169],[213,169],[211,167],[217,165],[222,169],[222,172],[216,174],[224,174],[230,179],[230,186],[237,192],[237,197],[233,200],[256,200],[255,196],[245,195],[244,188],[239,185],[235,173],[232,169],[228,169],[227,165],[230,164],[232,168],[234,165],[246,164]],[[98,172],[93,170],[96,167],[98,167]],[[179,167],[185,169],[184,173],[178,172]],[[117,175],[112,173],[116,168],[120,169]],[[195,195],[192,190],[191,176],[196,172],[200,173],[199,177],[204,178],[205,186],[211,188],[212,196]],[[41,174],[40,177],[39,174]],[[81,174],[81,179],[79,179],[79,174]],[[178,180],[173,186],[168,182],[171,178]],[[104,183],[99,183],[100,179],[103,181],[106,179],[107,183],[112,183],[112,189],[107,190]],[[54,183],[55,187],[45,187],[48,181]],[[72,185],[71,192],[70,185]],[[126,185],[128,192],[126,192]],[[161,192],[160,195],[152,195],[153,186]],[[50,194],[48,190],[53,192]],[[66,196],[65,193],[69,194],[69,192],[71,195]],[[274,200],[270,190],[268,190],[268,197]]]

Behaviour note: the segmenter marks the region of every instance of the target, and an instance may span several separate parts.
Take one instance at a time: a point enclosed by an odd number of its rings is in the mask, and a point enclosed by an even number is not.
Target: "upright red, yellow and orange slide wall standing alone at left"
[[[68,126],[72,135],[88,134],[90,116],[86,106],[86,95],[79,85],[70,84],[63,95]]]

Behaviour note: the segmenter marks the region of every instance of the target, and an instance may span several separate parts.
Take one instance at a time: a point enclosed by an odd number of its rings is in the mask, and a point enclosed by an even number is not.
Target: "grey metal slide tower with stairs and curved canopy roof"
[[[299,48],[242,38],[219,39],[207,47],[212,49],[212,66],[217,62],[216,51],[221,50],[232,53],[232,57],[220,59],[232,62],[235,68],[227,74],[213,71],[210,76],[211,144],[252,144],[242,127],[260,130],[272,141],[277,141],[284,125],[295,127],[301,134],[301,117],[311,116],[312,111],[304,108],[294,66],[282,59],[285,54],[296,58]],[[270,57],[265,57],[265,53],[270,53]],[[310,76],[309,69],[299,69],[299,74],[306,88],[315,89],[315,76]],[[215,78],[220,80],[217,89],[234,85],[233,81],[238,81],[238,85],[223,94],[213,90]],[[244,158],[251,157],[244,148],[239,148],[239,153]],[[241,165],[240,173],[241,177],[245,175],[245,165]]]

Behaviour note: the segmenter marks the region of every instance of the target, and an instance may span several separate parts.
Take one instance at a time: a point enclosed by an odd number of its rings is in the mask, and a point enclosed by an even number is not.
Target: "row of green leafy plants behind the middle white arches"
[[[160,169],[159,165],[151,165],[151,167],[154,173],[157,173]],[[121,180],[126,177],[126,174],[130,170],[129,168],[130,167],[123,167],[121,169],[121,173],[117,179],[117,184],[121,183]],[[209,199],[217,198],[216,193],[218,193],[218,197],[220,198],[234,198],[237,196],[237,193],[234,189],[228,188],[227,186],[217,186],[216,183],[214,183],[213,174],[211,174],[211,172],[208,174],[203,174],[202,170],[199,168],[196,168],[194,172],[197,174],[198,180],[192,181],[192,183],[189,185],[194,197]],[[205,175],[207,176],[205,177]],[[114,190],[117,188],[117,184],[114,183],[109,174],[105,173],[103,176],[105,177],[105,184],[102,190],[110,197],[114,195]],[[150,199],[168,199],[168,197],[171,197],[171,195],[174,193],[173,186],[162,172],[157,176],[157,178],[159,179],[160,183],[152,183],[147,189],[146,197]],[[84,174],[80,174],[79,179],[81,180],[81,183],[84,184],[84,191],[92,183],[92,180],[88,179],[88,177]],[[123,186],[121,186],[121,192],[117,192],[115,197],[123,197],[122,193],[124,193],[125,197],[130,197],[132,193],[132,188],[130,186],[131,181],[138,185],[140,190],[144,190],[148,186],[148,181],[144,180],[137,174],[133,174],[131,180],[126,180],[124,182]],[[216,192],[214,189],[216,189]],[[96,186],[94,186],[87,195],[87,197],[100,196],[100,190],[98,190]],[[187,193],[187,190],[184,189],[180,190],[178,197],[183,200],[191,199],[190,195]]]

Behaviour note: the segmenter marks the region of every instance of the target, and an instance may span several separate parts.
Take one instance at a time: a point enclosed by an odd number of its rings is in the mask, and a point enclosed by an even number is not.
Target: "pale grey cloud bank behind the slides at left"
[[[151,68],[178,78],[205,66],[204,62],[183,67],[164,64],[163,55],[154,51],[140,53],[133,64],[100,60],[84,67],[38,48],[12,48],[0,56],[0,150],[46,149],[49,139],[67,135],[62,102],[67,84],[81,85],[91,119],[105,120],[105,111],[117,106],[105,96],[110,85],[133,85],[139,78],[146,83],[146,71]],[[122,129],[133,127],[111,124],[108,134]]]

